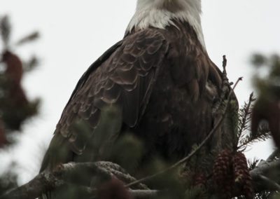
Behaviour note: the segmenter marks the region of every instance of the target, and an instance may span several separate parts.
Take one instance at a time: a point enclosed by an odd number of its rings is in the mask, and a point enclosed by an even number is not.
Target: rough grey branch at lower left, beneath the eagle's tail
[[[110,166],[112,168],[116,168],[117,170],[119,169],[120,171],[124,171],[123,169],[120,169],[120,166],[109,162],[66,163],[64,165],[59,165],[52,172],[41,172],[27,184],[22,185],[18,188],[14,188],[4,195],[1,195],[0,199],[38,198],[40,195],[42,195],[42,193],[52,191],[53,189],[59,188],[64,184],[71,184],[71,181],[75,183],[75,181],[78,181],[77,176],[80,176],[81,171],[85,174],[90,174],[90,177],[94,177],[94,175],[96,175],[106,179],[111,179],[113,173],[109,169]],[[123,179],[125,178],[125,176],[125,174],[122,175]],[[118,176],[116,175],[116,177]],[[129,178],[128,180],[131,180],[131,178]],[[141,185],[140,187],[146,188],[146,186],[144,185]],[[84,189],[89,190],[88,188]]]

